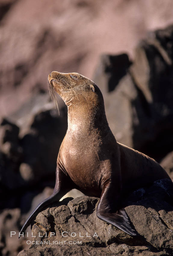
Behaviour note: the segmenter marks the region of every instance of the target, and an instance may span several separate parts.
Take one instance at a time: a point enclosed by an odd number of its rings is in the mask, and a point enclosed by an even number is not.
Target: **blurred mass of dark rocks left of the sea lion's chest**
[[[59,110],[60,115],[48,93],[37,92],[17,113],[2,121],[1,209],[19,207],[26,213],[36,194],[46,186],[54,187],[57,155],[67,129],[67,109],[62,101]],[[29,195],[26,209],[25,194]]]

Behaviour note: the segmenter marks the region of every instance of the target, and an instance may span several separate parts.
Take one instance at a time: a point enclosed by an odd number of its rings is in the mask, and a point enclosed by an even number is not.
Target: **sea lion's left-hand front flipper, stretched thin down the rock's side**
[[[73,182],[70,180],[68,176],[66,176],[59,167],[56,170],[56,184],[54,187],[54,192],[51,196],[43,200],[36,209],[32,212],[29,218],[24,223],[22,229],[20,230],[20,234],[26,230],[26,228],[31,224],[32,220],[35,219],[37,214],[41,211],[45,210],[50,204],[54,202],[58,202],[67,192],[73,189]],[[20,238],[20,236],[19,236]]]

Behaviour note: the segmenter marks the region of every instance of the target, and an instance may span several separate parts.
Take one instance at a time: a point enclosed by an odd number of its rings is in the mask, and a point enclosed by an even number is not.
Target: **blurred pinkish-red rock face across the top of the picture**
[[[148,30],[173,22],[173,2],[3,0],[0,117],[46,88],[52,70],[92,78],[102,53],[128,52]]]

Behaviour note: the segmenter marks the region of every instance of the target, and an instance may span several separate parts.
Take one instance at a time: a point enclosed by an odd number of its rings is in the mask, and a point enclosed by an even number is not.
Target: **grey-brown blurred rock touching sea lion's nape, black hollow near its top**
[[[114,81],[116,67],[126,60],[122,76]],[[112,66],[112,65],[115,65]],[[130,61],[127,55],[103,55],[100,58],[94,76],[94,82],[99,86],[105,103],[105,110],[109,126],[118,142],[132,147],[133,121],[131,101],[137,97],[137,91],[133,80],[129,75]],[[107,70],[107,71],[106,71]],[[111,91],[109,84],[111,81]],[[114,85],[113,85],[114,82]],[[113,90],[114,88],[114,90]]]

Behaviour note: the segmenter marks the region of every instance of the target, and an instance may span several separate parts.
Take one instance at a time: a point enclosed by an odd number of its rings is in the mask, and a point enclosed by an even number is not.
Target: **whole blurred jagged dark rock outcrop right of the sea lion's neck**
[[[173,26],[149,33],[132,64],[125,54],[102,56],[94,77],[116,139],[157,161],[173,145],[172,38]]]

